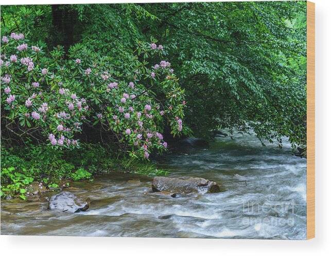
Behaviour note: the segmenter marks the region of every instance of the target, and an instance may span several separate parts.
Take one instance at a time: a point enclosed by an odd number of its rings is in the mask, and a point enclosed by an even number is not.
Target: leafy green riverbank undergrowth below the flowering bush
[[[27,200],[36,191],[58,191],[72,182],[92,182],[100,173],[123,172],[166,175],[152,162],[125,157],[111,146],[81,144],[61,151],[47,146],[1,146],[1,198]],[[36,187],[36,184],[37,187]]]

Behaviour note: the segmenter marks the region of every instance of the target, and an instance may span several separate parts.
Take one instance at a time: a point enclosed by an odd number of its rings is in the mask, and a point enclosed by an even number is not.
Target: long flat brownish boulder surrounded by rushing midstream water
[[[220,188],[216,182],[208,181],[203,178],[189,178],[186,180],[166,178],[162,176],[155,176],[152,181],[152,190],[171,191],[179,193],[187,192],[220,192]]]

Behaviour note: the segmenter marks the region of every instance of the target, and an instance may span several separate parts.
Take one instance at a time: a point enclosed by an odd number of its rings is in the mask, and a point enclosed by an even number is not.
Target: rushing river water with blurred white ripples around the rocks
[[[151,178],[110,173],[68,188],[91,199],[79,213],[47,210],[47,201],[1,202],[1,233],[175,238],[306,238],[306,159],[288,142],[262,147],[256,137],[219,137],[208,149],[170,153],[158,165],[169,176],[199,176],[223,192],[152,193]],[[51,193],[45,196],[50,196]]]

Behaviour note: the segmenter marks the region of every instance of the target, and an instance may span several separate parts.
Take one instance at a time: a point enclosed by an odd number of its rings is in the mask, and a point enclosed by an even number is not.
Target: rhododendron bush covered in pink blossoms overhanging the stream
[[[71,46],[68,54],[61,46],[47,52],[44,43],[27,37],[2,37],[2,116],[11,135],[74,149],[82,130],[92,128],[102,142],[107,134],[130,156],[148,159],[167,148],[166,123],[171,134],[181,134],[184,90],[153,38],[137,42],[132,72],[122,74],[109,56],[87,45]]]

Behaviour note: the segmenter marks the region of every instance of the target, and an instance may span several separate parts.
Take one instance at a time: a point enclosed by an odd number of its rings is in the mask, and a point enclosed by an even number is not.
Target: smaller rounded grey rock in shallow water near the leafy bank
[[[63,191],[51,196],[48,201],[48,209],[60,210],[62,212],[78,212],[89,209],[89,203],[86,200],[78,198],[72,192]]]

